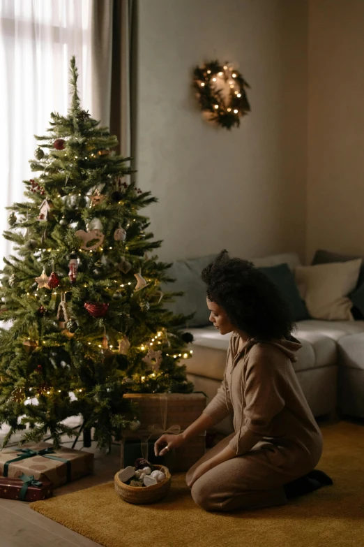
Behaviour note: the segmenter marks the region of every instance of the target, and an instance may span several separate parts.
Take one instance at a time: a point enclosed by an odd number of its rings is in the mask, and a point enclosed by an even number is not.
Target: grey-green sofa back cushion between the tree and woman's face
[[[174,314],[189,315],[195,313],[195,317],[188,321],[186,327],[203,327],[211,324],[208,321],[210,312],[206,305],[206,285],[201,279],[202,270],[213,261],[217,254],[208,254],[190,260],[175,261],[167,270],[167,275],[176,279],[174,283],[161,283],[162,292],[184,291],[183,296],[174,297],[175,302],[166,302],[164,307]]]

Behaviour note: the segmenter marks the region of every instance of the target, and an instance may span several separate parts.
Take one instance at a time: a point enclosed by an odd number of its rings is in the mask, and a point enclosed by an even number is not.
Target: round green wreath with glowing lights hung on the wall
[[[203,66],[196,66],[193,85],[202,111],[210,112],[208,118],[222,127],[238,127],[239,118],[250,112],[245,93],[250,85],[232,64],[221,65],[218,61],[210,61]]]

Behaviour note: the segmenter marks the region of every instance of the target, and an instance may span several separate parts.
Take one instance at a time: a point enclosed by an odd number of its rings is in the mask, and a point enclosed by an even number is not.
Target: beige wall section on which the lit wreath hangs
[[[223,248],[303,260],[307,22],[306,0],[139,0],[137,180],[159,199],[144,211],[161,260]],[[191,88],[214,58],[251,86],[231,132],[204,121]]]

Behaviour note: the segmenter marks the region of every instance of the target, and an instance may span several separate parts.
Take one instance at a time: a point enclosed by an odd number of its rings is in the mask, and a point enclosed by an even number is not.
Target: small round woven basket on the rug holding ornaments
[[[147,504],[158,502],[169,493],[171,488],[172,477],[165,465],[153,465],[155,469],[159,469],[165,474],[165,479],[160,483],[152,486],[129,486],[121,482],[118,471],[114,478],[115,491],[124,502],[132,504]],[[121,469],[122,471],[123,469]]]

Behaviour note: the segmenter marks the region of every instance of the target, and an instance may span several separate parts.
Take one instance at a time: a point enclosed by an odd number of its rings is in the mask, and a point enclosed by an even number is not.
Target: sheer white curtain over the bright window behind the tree
[[[24,200],[36,135],[50,112],[66,114],[68,70],[75,54],[79,92],[91,111],[91,0],[0,0],[0,268],[11,244],[4,208]],[[94,116],[93,116],[94,117]]]

